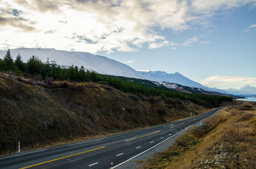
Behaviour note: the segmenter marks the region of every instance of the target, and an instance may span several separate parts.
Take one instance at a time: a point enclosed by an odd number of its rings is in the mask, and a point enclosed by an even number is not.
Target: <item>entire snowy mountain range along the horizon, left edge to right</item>
[[[5,54],[6,51],[0,51],[0,58],[3,59]],[[136,71],[130,66],[127,66],[121,62],[109,59],[108,57],[104,57],[102,55],[93,55],[88,52],[68,52],[65,50],[55,50],[54,48],[16,48],[11,49],[11,54],[13,59],[20,54],[22,60],[25,62],[28,61],[29,57],[35,55],[43,62],[46,62],[47,58],[49,58],[49,61],[56,61],[57,64],[63,66],[71,66],[72,64],[76,66],[84,66],[84,68],[87,70],[96,71],[97,73],[104,75],[115,75],[120,77],[141,78],[156,82],[167,82],[172,83],[172,86],[175,86],[175,84],[180,84],[183,86],[203,89],[205,91],[233,94],[236,96],[256,95],[256,87],[251,87],[250,85],[246,85],[241,89],[230,88],[223,90],[210,88],[190,80],[178,72],[166,73],[164,71]]]

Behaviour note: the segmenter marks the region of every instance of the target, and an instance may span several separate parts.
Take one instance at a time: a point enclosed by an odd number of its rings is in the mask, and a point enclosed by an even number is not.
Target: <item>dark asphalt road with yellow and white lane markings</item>
[[[211,116],[221,108],[182,121],[99,138],[61,147],[24,152],[0,158],[0,168],[97,168],[120,167],[125,162]]]

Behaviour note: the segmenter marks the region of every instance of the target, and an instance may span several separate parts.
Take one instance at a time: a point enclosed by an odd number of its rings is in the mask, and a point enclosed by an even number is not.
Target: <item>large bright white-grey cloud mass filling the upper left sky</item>
[[[255,1],[1,0],[0,49],[6,48],[4,42],[13,48],[44,47],[93,54],[173,44],[189,46],[199,38],[170,43],[156,28],[180,33],[203,27],[220,10],[246,4],[255,6]]]

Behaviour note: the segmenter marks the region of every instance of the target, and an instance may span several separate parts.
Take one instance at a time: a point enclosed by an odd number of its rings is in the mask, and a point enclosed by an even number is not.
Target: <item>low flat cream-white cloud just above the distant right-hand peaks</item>
[[[228,87],[240,88],[244,85],[256,86],[256,77],[212,76],[200,80],[200,84],[209,87],[220,87],[221,89]]]

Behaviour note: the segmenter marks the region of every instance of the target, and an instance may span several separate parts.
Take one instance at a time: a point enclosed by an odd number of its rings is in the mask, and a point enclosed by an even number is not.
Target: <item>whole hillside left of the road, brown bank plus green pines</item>
[[[231,101],[150,87],[36,57],[13,61],[10,53],[0,60],[0,70],[0,153],[14,151],[17,142],[24,148],[42,147],[163,124]]]

